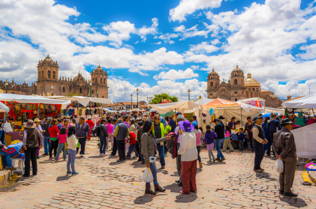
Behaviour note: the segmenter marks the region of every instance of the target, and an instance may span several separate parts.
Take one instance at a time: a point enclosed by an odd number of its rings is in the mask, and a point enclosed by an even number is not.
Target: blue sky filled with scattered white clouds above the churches
[[[208,73],[227,81],[237,64],[279,98],[308,95],[315,14],[316,0],[0,0],[0,80],[30,85],[49,54],[61,77],[106,69],[113,101],[139,86],[144,101],[207,97]]]

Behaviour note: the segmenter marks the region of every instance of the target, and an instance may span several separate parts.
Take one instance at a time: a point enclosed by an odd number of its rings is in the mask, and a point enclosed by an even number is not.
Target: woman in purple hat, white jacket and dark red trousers
[[[193,132],[194,126],[189,121],[180,121],[179,134],[181,135],[178,155],[181,155],[181,177],[182,190],[180,193],[189,194],[190,191],[197,192],[197,138]]]

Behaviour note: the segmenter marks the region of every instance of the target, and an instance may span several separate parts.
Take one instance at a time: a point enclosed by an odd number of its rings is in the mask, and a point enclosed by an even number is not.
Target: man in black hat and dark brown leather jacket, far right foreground
[[[283,172],[280,173],[280,194],[289,197],[296,197],[291,187],[293,185],[295,169],[297,164],[296,144],[292,130],[292,122],[286,118],[281,122],[281,130],[274,134],[272,148],[277,159],[283,162]]]

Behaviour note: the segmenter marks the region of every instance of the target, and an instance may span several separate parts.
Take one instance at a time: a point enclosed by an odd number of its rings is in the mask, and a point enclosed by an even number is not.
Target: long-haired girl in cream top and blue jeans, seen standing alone
[[[72,174],[72,176],[76,176],[79,174],[75,171],[77,143],[78,143],[78,140],[76,137],[76,127],[71,126],[71,127],[69,127],[68,134],[67,134],[67,144],[68,144],[67,175]],[[73,172],[70,172],[70,164],[72,165]]]

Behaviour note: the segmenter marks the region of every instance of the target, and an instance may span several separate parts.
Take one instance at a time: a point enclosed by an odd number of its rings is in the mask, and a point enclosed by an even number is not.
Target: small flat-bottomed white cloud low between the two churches
[[[154,76],[154,79],[162,80],[178,80],[178,79],[189,79],[193,77],[199,77],[198,73],[194,73],[191,68],[183,70],[169,70],[168,72],[160,72],[158,75]]]

